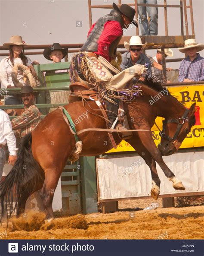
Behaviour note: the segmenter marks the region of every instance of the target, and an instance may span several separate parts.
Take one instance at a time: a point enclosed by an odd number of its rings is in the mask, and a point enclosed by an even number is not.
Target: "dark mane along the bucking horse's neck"
[[[163,81],[161,79],[158,79],[156,76],[147,75],[147,76],[145,76],[145,81],[142,82],[142,83],[144,85],[147,85],[149,88],[152,88],[153,90],[155,90],[157,92],[161,92],[166,88],[166,87],[161,85],[163,83]],[[174,95],[170,94],[168,89],[167,89],[167,91],[168,91],[168,96],[176,98],[176,100],[179,101],[177,96],[174,96]],[[179,101],[179,103],[182,104],[185,107],[184,102]]]

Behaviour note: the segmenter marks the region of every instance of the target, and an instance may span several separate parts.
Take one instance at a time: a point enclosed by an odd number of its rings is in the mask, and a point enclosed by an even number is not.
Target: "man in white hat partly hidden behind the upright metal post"
[[[171,49],[164,49],[165,58],[173,57],[173,51]],[[157,49],[157,54],[155,57],[150,57],[151,60],[151,72],[153,76],[156,76],[158,79],[163,81],[163,72],[162,72],[162,53],[161,48]],[[172,68],[167,68],[167,71],[172,70]]]

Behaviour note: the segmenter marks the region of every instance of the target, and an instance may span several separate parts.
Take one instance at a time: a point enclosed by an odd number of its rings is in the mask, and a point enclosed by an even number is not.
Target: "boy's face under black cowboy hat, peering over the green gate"
[[[54,43],[43,51],[43,56],[47,60],[52,60],[53,63],[59,63],[67,55],[68,48],[62,48],[59,43]]]

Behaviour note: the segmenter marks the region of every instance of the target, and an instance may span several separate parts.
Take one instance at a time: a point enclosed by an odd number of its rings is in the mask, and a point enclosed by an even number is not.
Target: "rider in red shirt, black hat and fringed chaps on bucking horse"
[[[113,3],[111,12],[97,20],[88,32],[87,41],[73,57],[70,66],[71,82],[81,82],[94,88],[105,102],[109,128],[116,129],[124,138],[127,129],[117,118],[120,100],[131,100],[138,95],[138,87],[130,86],[133,77],[146,72],[144,65],[134,65],[120,72],[110,64],[123,35],[123,28],[136,25],[135,10],[127,4],[117,7]]]

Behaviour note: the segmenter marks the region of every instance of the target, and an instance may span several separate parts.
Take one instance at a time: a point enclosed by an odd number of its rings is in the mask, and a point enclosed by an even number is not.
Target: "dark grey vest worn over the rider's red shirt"
[[[124,28],[124,22],[121,17],[121,13],[117,10],[113,9],[111,12],[102,18],[98,19],[96,22],[94,28],[92,29],[89,37],[87,38],[87,41],[83,44],[81,51],[98,51],[98,40],[100,35],[103,32],[104,25],[109,20],[116,20],[120,22],[121,28]],[[109,46],[108,55],[112,57],[114,55],[114,51],[117,48],[117,45],[119,44],[121,37],[116,38]]]

